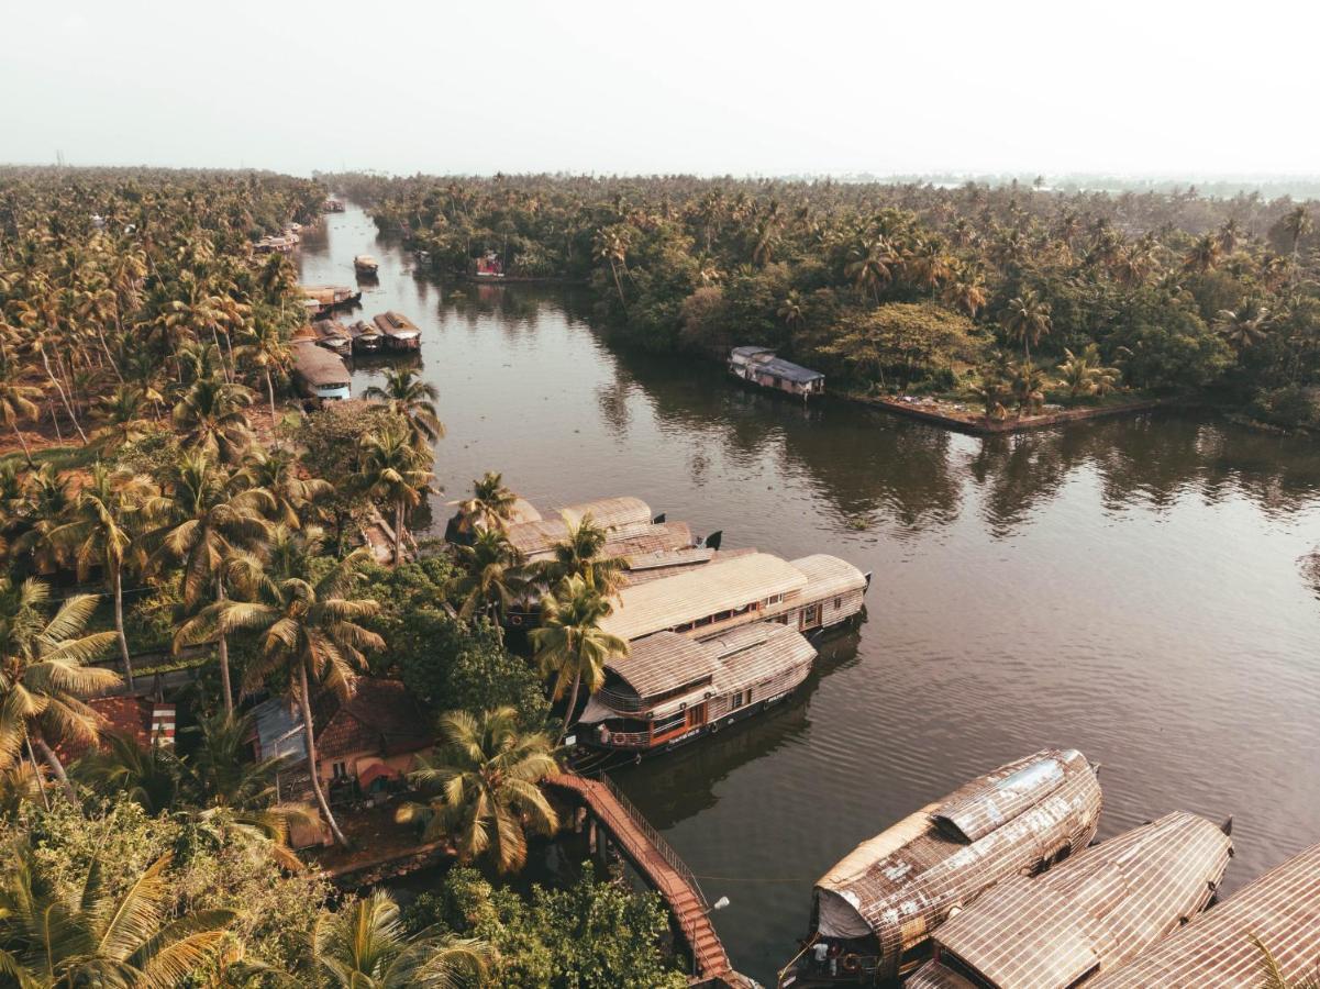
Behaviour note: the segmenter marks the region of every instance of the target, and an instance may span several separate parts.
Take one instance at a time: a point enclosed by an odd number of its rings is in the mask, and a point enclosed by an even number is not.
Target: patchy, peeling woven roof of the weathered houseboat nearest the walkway
[[[966,805],[997,782],[1038,763],[1057,765],[1061,782],[1052,772],[1040,774],[1035,801],[975,841],[937,823],[936,811]],[[1100,780],[1076,750],[1045,750],[1002,766],[858,846],[826,873],[816,883],[820,932],[834,938],[874,934],[882,956],[879,974],[894,976],[904,952],[925,941],[952,907],[966,906],[997,882],[1038,870],[1059,854],[1086,848],[1100,807]]]

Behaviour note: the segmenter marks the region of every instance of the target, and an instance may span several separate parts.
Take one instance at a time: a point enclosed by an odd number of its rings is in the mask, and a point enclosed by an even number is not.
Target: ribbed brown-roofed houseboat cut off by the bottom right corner
[[[1266,981],[1261,945],[1278,967],[1278,981]],[[1302,986],[1317,969],[1320,845],[1313,845],[1086,989]]]

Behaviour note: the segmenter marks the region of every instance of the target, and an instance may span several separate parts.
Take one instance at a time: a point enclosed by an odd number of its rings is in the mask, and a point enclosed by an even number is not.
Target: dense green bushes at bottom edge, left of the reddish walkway
[[[420,897],[411,927],[441,923],[490,943],[495,985],[545,989],[680,989],[686,977],[661,953],[669,919],[660,898],[597,882],[590,866],[564,890],[529,897],[454,869],[436,897]]]

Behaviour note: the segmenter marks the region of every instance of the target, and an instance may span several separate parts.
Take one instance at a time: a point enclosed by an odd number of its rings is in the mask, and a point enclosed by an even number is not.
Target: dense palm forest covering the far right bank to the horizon
[[[1313,424],[1311,202],[1038,185],[322,176],[441,273],[581,280],[638,345],[763,343],[858,390],[1213,390]],[[1008,354],[1020,359],[1008,359]],[[1056,375],[1059,375],[1056,378]]]

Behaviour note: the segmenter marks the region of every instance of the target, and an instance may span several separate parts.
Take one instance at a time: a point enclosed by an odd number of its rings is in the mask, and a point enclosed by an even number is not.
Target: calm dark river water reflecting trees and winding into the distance
[[[308,238],[304,277],[350,281],[359,252],[381,261],[366,313],[424,331],[441,524],[496,469],[539,506],[635,494],[729,547],[874,572],[869,622],[792,704],[616,776],[730,898],[739,969],[772,982],[812,882],[858,841],[1045,746],[1104,763],[1102,837],[1234,815],[1229,891],[1320,841],[1311,442],[1177,415],[981,440],[803,409],[612,349],[572,292],[442,289],[356,210]]]

